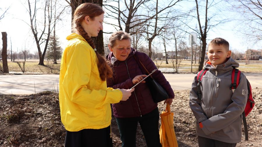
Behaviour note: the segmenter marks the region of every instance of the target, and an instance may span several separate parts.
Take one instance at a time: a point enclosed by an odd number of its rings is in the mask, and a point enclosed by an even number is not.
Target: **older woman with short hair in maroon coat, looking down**
[[[145,53],[131,48],[130,35],[117,31],[109,38],[110,53],[107,55],[113,69],[113,77],[107,79],[107,87],[114,89],[130,89],[146,77],[143,69],[135,60],[139,59],[148,71],[157,69],[154,62]],[[155,71],[153,78],[164,87],[169,98],[164,103],[171,105],[174,92],[161,71]],[[127,101],[113,104],[113,112],[120,131],[122,147],[136,146],[136,130],[139,122],[148,147],[161,147],[158,132],[159,111],[154,103],[150,90],[145,81],[135,87]]]

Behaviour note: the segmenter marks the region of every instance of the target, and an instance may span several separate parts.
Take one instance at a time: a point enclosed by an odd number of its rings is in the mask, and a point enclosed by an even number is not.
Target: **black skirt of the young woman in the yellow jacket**
[[[65,147],[113,147],[111,126],[102,129],[66,131]]]

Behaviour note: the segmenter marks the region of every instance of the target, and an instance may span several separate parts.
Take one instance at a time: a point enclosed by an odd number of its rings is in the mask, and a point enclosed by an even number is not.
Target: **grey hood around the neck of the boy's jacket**
[[[204,69],[218,69],[219,71],[229,71],[231,69],[233,69],[233,67],[239,67],[239,63],[236,62],[234,59],[232,59],[231,57],[227,58],[227,61],[226,63],[224,64],[220,64],[220,65],[217,65],[216,67],[213,67],[210,63],[209,60],[206,61],[205,63],[205,66],[204,66]]]

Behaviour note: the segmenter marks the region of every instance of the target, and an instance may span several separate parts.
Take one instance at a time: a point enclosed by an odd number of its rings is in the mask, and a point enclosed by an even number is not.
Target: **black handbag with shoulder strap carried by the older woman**
[[[136,56],[134,55],[135,60],[137,61]],[[146,67],[143,65],[143,63],[139,60],[137,61],[138,65],[140,65],[145,69],[147,74],[150,74]],[[141,67],[139,66],[139,67]],[[142,70],[142,69],[141,69]],[[150,89],[151,96],[153,98],[153,101],[155,103],[159,103],[161,101],[164,101],[168,98],[168,94],[166,90],[159,84],[157,81],[150,75],[148,78],[145,79],[147,86]]]

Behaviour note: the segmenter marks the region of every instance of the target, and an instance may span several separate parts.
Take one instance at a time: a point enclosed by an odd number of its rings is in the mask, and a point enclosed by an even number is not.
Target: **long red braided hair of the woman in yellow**
[[[74,33],[79,32],[93,49],[95,49],[95,44],[93,40],[88,36],[84,28],[81,26],[81,22],[84,20],[86,16],[89,16],[90,19],[94,19],[94,17],[104,13],[104,10],[100,6],[93,3],[82,3],[76,8],[74,13],[72,31]],[[101,80],[105,81],[106,78],[111,78],[113,72],[112,69],[107,65],[105,58],[102,55],[100,55],[97,51],[95,51],[95,54],[98,59],[97,67]]]

